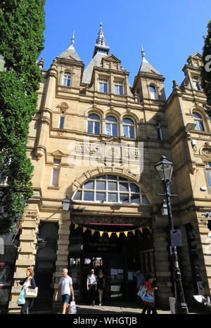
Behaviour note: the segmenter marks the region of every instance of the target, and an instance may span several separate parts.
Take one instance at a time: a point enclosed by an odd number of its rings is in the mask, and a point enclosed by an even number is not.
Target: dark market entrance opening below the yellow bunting
[[[90,227],[90,225],[86,225]],[[136,301],[136,278],[134,273],[137,270],[144,270],[144,273],[154,273],[153,261],[153,240],[147,229],[143,229],[141,234],[136,230],[135,234],[130,233],[127,237],[120,233],[119,237],[113,233],[108,237],[107,233],[100,236],[103,231],[126,231],[136,229],[136,226],[120,225],[91,225],[91,229],[96,232],[91,235],[91,231],[83,232],[82,227],[75,230],[72,225],[70,230],[70,251],[69,251],[69,273],[72,277],[75,297],[81,303],[89,302],[87,292],[87,275],[92,268],[95,274],[102,269],[106,280],[106,287],[103,299],[108,301]],[[144,237],[143,237],[144,236]],[[151,256],[144,256],[145,251],[151,251]],[[147,258],[147,261],[145,260]],[[144,262],[143,262],[144,260]],[[103,300],[103,301],[104,301]],[[98,292],[96,292],[96,303],[98,303]]]

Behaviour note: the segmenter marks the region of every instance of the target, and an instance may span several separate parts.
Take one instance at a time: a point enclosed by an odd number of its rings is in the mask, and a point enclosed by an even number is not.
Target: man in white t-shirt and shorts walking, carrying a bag
[[[72,288],[72,278],[68,275],[68,269],[63,269],[63,277],[60,278],[58,289],[56,291],[55,301],[58,299],[58,292],[61,291],[63,299],[63,315],[66,313],[68,303],[70,301],[70,295],[72,295],[72,301],[75,301],[74,291]]]

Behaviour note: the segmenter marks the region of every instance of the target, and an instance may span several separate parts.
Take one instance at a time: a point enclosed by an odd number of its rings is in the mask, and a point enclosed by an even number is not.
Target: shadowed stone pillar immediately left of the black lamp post
[[[169,297],[172,295],[169,252],[167,249],[166,218],[156,217],[153,221],[153,239],[155,249],[155,275],[158,279],[158,296],[160,306],[169,308]]]

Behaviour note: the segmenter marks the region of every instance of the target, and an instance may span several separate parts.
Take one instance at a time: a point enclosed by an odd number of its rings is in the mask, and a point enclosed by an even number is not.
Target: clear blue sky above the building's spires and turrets
[[[189,55],[203,49],[203,35],[211,20],[210,0],[46,0],[44,69],[70,46],[75,29],[75,50],[85,67],[91,61],[102,20],[110,53],[130,72],[129,83],[141,65],[141,44],[146,59],[165,78],[165,92],[172,80],[180,84]]]

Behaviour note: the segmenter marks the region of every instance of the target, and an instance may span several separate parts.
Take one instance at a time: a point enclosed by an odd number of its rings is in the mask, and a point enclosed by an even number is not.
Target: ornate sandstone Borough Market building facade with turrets
[[[85,70],[74,41],[49,70],[43,70],[42,59],[38,63],[43,82],[27,145],[34,195],[25,209],[14,282],[33,267],[37,308],[50,308],[63,268],[82,302],[90,268],[103,268],[106,299],[133,300],[133,274],[141,269],[155,275],[159,303],[168,306],[174,290],[169,223],[161,214],[163,199],[157,194],[163,190],[154,168],[165,155],[175,166],[171,190],[179,197],[172,197],[172,209],[182,234],[186,300],[201,286],[210,294],[209,227],[203,214],[211,200],[211,130],[200,89],[201,56],[188,58],[184,82],[179,87],[174,81],[166,100],[165,78],[148,63],[143,48],[130,86],[129,72],[109,54],[102,25]],[[65,198],[68,211],[63,211]],[[19,312],[19,292],[14,283],[8,313]]]

